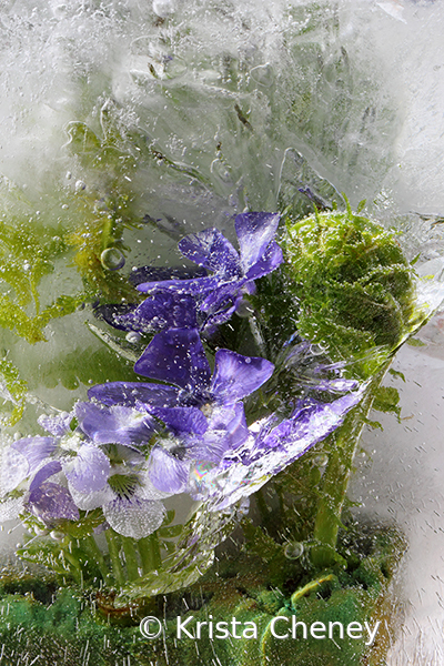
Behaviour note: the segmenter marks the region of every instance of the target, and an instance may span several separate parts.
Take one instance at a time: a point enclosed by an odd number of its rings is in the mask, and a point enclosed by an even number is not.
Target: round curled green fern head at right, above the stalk
[[[393,233],[349,205],[289,220],[285,250],[300,334],[372,375],[418,320],[413,269]]]

